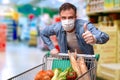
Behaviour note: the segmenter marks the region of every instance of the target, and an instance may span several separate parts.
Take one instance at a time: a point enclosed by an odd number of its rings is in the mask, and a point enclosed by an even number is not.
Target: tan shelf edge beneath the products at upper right
[[[91,12],[87,12],[88,16],[92,16],[92,15],[98,15],[100,13],[113,13],[113,12],[118,12],[120,13],[120,8],[113,8],[113,9],[106,9],[106,10],[98,10],[98,11],[91,11]]]

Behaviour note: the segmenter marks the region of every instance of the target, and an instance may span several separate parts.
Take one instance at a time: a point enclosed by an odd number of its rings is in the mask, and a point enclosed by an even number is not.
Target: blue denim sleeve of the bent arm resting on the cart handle
[[[52,41],[50,40],[50,36],[54,35],[54,25],[47,26],[43,30],[40,31],[40,36],[43,40],[43,42],[49,47],[49,49],[53,49],[54,45]]]

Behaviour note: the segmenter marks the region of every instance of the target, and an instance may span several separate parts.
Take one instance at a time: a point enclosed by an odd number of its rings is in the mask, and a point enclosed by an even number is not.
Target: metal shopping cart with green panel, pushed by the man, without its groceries
[[[90,75],[90,80],[96,80],[96,69],[97,69],[97,61],[99,59],[99,55],[84,55],[77,54],[77,58],[84,57],[86,66],[88,67],[88,71],[79,76],[76,80],[83,80],[82,78],[86,75]],[[65,70],[67,67],[71,66],[68,54],[60,53],[59,55],[52,56],[48,52],[43,57],[43,63],[31,68],[23,73],[20,73],[8,80],[34,80],[36,74],[40,70],[52,70],[55,68],[61,68]]]

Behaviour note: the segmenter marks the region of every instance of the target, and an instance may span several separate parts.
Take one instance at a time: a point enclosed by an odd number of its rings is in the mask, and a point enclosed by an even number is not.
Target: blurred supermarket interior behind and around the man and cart
[[[77,17],[89,20],[110,40],[94,45],[100,54],[97,80],[120,80],[120,0],[0,0],[0,80],[42,63],[49,51],[40,30],[59,22],[59,7],[74,4]],[[57,39],[51,36],[59,49]]]

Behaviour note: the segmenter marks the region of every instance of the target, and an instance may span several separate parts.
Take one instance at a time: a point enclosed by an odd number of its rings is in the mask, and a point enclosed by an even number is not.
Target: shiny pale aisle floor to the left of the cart
[[[7,80],[41,64],[45,53],[25,44],[7,43],[6,52],[0,53],[0,80]]]

